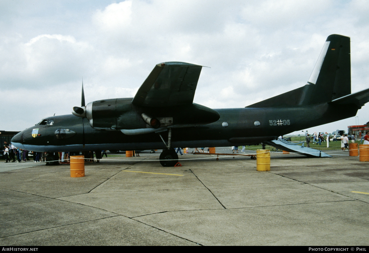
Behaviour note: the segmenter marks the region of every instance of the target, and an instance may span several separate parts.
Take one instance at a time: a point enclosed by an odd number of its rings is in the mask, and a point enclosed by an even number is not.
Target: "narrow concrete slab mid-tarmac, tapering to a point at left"
[[[161,190],[88,193],[59,198],[127,217],[158,212],[223,209],[208,190]]]

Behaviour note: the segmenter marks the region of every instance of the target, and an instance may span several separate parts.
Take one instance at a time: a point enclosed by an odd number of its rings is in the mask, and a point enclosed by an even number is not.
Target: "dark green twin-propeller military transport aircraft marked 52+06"
[[[82,103],[73,107],[73,115],[42,119],[11,142],[39,152],[163,149],[160,163],[174,166],[178,156],[173,147],[270,141],[354,117],[369,101],[369,89],[351,94],[350,38],[342,35],[328,36],[305,86],[245,108],[210,109],[193,103],[201,68],[184,62],[160,63],[134,98],[87,105],[82,85]],[[186,110],[180,110],[183,106]]]

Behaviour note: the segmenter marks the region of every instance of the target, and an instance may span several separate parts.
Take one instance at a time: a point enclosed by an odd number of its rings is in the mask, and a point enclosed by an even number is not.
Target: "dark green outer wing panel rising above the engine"
[[[138,89],[132,104],[148,107],[192,104],[201,68],[185,62],[159,63]]]

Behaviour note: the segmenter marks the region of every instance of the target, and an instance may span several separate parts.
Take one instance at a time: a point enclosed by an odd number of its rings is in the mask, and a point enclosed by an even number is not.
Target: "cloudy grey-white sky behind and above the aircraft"
[[[351,90],[360,91],[368,13],[366,0],[0,0],[0,130],[70,114],[82,79],[86,103],[133,97],[166,61],[210,67],[194,103],[245,107],[305,85],[330,34],[351,37]],[[346,130],[369,121],[368,108],[301,130]]]

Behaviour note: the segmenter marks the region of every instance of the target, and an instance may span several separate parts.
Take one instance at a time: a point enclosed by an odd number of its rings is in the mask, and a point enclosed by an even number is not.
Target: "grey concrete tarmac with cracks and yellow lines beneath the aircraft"
[[[179,158],[107,157],[80,178],[67,164],[2,162],[0,245],[369,245],[359,157],[271,153],[269,172],[249,157]]]

